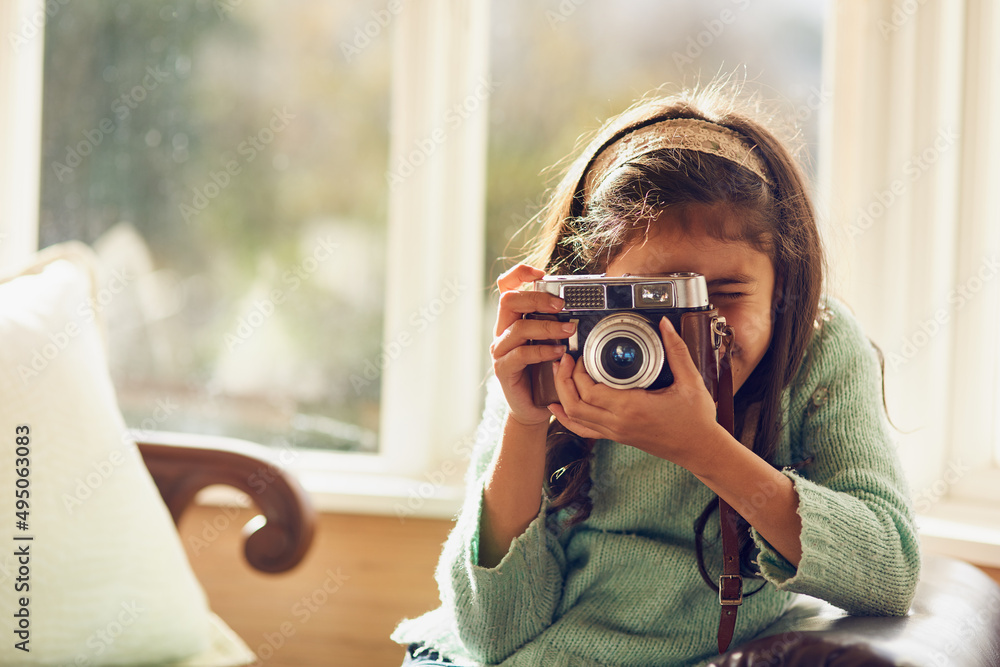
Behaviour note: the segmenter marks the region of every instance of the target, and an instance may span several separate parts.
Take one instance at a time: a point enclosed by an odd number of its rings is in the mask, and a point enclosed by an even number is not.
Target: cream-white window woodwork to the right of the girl
[[[991,526],[977,558],[996,565],[1000,12],[979,0],[836,7],[822,182],[839,286],[886,355],[918,512]]]

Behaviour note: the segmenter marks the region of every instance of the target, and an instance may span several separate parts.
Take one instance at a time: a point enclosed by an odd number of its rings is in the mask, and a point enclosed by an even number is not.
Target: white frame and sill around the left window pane
[[[12,147],[0,162],[0,266],[38,248],[45,11],[42,0],[0,6],[0,33],[24,25],[38,31],[13,57],[0,57],[0,92],[17,101],[0,109],[0,137]],[[485,375],[488,16],[485,0],[431,0],[401,7],[387,27],[393,55],[382,351],[389,362],[380,376],[379,452],[273,452],[320,510],[450,518],[460,506]],[[391,180],[393,165],[403,163],[412,169]],[[422,312],[433,316],[415,323]],[[406,336],[414,326],[421,335]],[[393,354],[400,341],[406,344]]]

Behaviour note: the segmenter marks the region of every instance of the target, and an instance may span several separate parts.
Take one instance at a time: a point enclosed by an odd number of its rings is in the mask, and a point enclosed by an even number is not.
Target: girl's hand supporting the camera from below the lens
[[[660,335],[674,374],[669,387],[615,389],[594,382],[583,364],[567,354],[556,372],[562,405],[549,408],[581,437],[631,445],[699,474],[718,456],[719,443],[732,438],[716,422],[715,402],[687,345],[667,318],[660,321]],[[726,438],[720,438],[720,430]]]

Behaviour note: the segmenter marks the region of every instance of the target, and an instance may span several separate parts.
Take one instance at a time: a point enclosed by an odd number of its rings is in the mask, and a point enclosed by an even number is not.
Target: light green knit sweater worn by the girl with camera
[[[802,560],[793,567],[751,530],[767,583],[745,598],[733,647],[766,634],[798,593],[854,614],[909,608],[917,535],[879,373],[854,318],[829,302],[784,393],[775,459],[791,465],[812,457],[784,472],[799,496]],[[441,554],[441,607],[403,621],[393,639],[423,642],[457,662],[505,667],[696,665],[716,656],[719,603],[698,574],[692,528],[713,494],[669,461],[598,441],[590,517],[560,530],[543,500],[495,568],[477,565],[484,476],[505,409],[497,385],[488,392],[465,505]],[[716,538],[706,529],[713,576],[722,559]]]

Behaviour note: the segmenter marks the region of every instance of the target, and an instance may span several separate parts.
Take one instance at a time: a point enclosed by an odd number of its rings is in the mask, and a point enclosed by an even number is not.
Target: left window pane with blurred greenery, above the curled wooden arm
[[[111,268],[94,307],[131,426],[377,450],[391,44],[338,47],[376,7],[48,17],[39,245]]]

